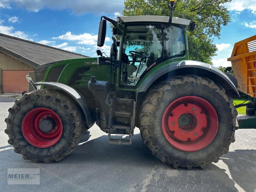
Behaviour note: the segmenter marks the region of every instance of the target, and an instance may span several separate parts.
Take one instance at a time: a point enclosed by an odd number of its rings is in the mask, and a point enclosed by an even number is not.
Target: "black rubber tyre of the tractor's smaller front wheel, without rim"
[[[63,132],[57,143],[50,147],[36,147],[23,135],[22,121],[28,112],[36,108],[50,109],[61,119]],[[58,90],[42,89],[24,94],[8,111],[4,131],[9,136],[8,143],[13,145],[15,153],[34,163],[60,161],[75,149],[85,131],[81,108],[70,96]]]

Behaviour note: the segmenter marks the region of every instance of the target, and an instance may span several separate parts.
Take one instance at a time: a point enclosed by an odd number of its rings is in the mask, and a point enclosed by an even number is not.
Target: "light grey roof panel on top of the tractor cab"
[[[120,20],[120,21],[118,21]],[[120,16],[117,17],[117,21],[120,23],[128,23],[128,22],[162,22],[169,23],[170,17],[167,16],[156,16],[156,15],[141,15],[141,16]],[[180,25],[189,25],[190,20],[181,19],[178,17],[172,18],[172,23],[180,24]]]

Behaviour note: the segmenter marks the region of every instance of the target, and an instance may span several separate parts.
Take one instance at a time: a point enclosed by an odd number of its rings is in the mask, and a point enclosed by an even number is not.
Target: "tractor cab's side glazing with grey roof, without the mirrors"
[[[121,60],[121,86],[136,86],[140,77],[156,64],[186,55],[183,33],[186,25],[180,24],[182,19],[174,19],[178,23],[176,26],[168,23],[169,17],[135,16],[119,17],[118,20],[126,23],[120,51],[123,58],[128,58]],[[162,22],[158,23],[159,20]],[[184,22],[189,24],[190,21]]]

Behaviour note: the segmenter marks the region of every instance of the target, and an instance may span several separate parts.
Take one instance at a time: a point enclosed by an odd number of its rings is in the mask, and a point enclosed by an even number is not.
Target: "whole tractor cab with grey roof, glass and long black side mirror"
[[[100,64],[114,66],[118,77],[114,84],[120,88],[136,88],[152,68],[166,60],[188,60],[186,28],[190,20],[166,16],[130,16],[117,17],[117,21],[102,16],[99,28],[98,46],[104,45],[106,20],[113,25],[111,58],[99,58]],[[192,28],[195,24],[192,23]],[[119,47],[119,55],[117,55]],[[100,54],[99,54],[100,55]],[[109,60],[107,63],[106,60]],[[104,62],[102,62],[104,61]],[[117,82],[118,81],[118,82]]]

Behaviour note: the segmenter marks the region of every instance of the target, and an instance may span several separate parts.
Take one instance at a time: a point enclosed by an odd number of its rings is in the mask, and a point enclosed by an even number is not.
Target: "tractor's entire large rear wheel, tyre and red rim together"
[[[175,76],[146,96],[140,131],[146,146],[175,168],[218,162],[235,141],[237,111],[224,88],[210,79]]]

